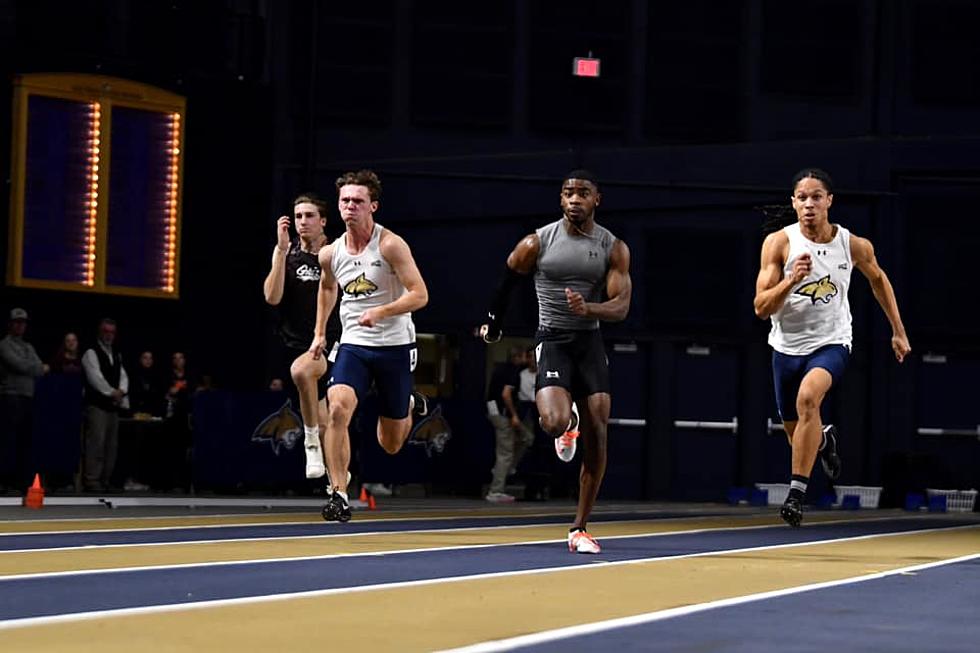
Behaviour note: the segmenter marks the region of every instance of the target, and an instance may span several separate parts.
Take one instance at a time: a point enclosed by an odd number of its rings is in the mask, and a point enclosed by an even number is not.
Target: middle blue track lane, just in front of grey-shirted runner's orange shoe
[[[350,588],[447,576],[575,567],[969,523],[975,522],[955,518],[911,518],[813,525],[803,529],[775,526],[744,531],[607,538],[603,541],[601,556],[571,555],[566,553],[564,545],[547,543],[0,579],[0,620]]]

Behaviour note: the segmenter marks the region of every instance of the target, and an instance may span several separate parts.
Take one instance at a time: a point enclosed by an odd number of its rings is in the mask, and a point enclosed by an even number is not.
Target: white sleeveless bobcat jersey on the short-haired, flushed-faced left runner
[[[374,224],[371,240],[360,254],[347,251],[347,234],[335,241],[330,269],[340,284],[340,343],[382,347],[415,342],[411,313],[388,317],[373,327],[361,326],[357,319],[369,308],[390,304],[405,293],[394,268],[381,256],[380,224]]]

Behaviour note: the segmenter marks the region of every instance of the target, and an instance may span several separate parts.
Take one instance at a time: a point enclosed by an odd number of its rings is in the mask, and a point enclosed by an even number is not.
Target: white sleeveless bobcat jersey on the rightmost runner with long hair
[[[783,274],[789,277],[793,261],[810,254],[813,269],[796,284],[782,307],[772,314],[769,344],[794,356],[813,353],[824,345],[851,348],[851,232],[840,225],[829,243],[815,243],[800,231],[799,223],[783,229],[789,237],[789,256]]]

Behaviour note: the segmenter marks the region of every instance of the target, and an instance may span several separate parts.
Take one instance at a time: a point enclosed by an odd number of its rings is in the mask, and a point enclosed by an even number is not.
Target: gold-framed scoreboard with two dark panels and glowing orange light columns
[[[185,110],[122,79],[17,77],[8,284],[177,298]]]

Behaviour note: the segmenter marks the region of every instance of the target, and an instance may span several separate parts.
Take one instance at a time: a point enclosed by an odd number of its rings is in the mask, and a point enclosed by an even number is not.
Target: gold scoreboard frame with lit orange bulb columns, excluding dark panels
[[[83,157],[86,192],[76,211],[84,216],[80,229],[83,240],[77,252],[81,263],[75,278],[32,278],[25,274],[25,200],[28,194],[28,134],[30,98],[45,97],[78,103],[85,112],[88,125],[83,132],[87,140],[73,142],[77,150],[85,148]],[[85,106],[87,105],[87,107]],[[85,74],[39,73],[17,76],[14,80],[13,130],[11,138],[10,234],[7,264],[7,283],[27,288],[48,288],[80,292],[96,292],[140,297],[177,299],[180,280],[181,195],[183,191],[184,134],[186,133],[186,98],[159,88],[123,79]],[[117,219],[142,219],[150,224],[150,216],[113,216],[110,213],[110,182],[112,170],[113,108],[133,109],[149,114],[159,113],[168,137],[162,149],[152,154],[165,161],[163,176],[152,180],[163,188],[157,198],[161,207],[155,216],[162,226],[160,242],[154,255],[159,257],[158,277],[144,285],[112,284],[107,275],[109,258],[109,224]],[[74,155],[78,156],[77,152]],[[78,173],[78,171],[76,171]],[[67,218],[66,218],[67,220]],[[77,222],[77,220],[76,220]],[[51,239],[58,234],[48,234]],[[146,245],[146,243],[140,243]],[[152,243],[151,243],[152,244]],[[128,253],[121,255],[129,255]],[[133,256],[141,255],[133,252]]]

